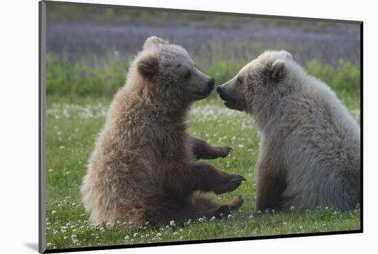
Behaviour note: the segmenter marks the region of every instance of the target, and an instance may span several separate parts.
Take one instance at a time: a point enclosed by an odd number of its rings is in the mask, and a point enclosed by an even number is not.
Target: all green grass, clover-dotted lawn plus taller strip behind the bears
[[[247,182],[230,194],[209,195],[227,202],[241,193],[243,207],[230,218],[190,221],[185,227],[168,224],[159,229],[130,231],[88,224],[80,184],[112,95],[124,82],[126,67],[118,58],[97,65],[87,60],[72,64],[54,56],[47,60],[47,249],[360,229],[359,209],[294,209],[254,218],[259,135],[250,117],[221,106],[215,93],[194,104],[189,131],[212,145],[234,148],[229,157],[207,162],[242,174]],[[238,62],[217,62],[212,67],[204,66],[202,71],[221,83],[232,78],[240,67]],[[359,122],[359,67],[342,61],[333,67],[314,60],[306,69],[328,82]]]

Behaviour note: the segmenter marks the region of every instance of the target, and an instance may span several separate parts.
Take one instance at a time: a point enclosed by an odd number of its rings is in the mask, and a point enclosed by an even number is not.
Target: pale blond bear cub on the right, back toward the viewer
[[[287,51],[266,51],[217,89],[261,133],[256,211],[353,209],[360,201],[360,130],[323,82]]]

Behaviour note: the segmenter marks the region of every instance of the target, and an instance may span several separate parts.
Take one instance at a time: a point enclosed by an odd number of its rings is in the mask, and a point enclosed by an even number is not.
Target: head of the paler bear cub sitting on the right
[[[249,113],[264,110],[282,95],[289,62],[292,57],[287,51],[265,51],[216,91],[227,108]]]

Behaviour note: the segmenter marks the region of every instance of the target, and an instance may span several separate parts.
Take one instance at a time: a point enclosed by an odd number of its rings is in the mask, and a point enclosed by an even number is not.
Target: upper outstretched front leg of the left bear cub
[[[230,146],[210,146],[206,141],[197,137],[190,137],[190,144],[195,159],[225,158],[232,152]]]

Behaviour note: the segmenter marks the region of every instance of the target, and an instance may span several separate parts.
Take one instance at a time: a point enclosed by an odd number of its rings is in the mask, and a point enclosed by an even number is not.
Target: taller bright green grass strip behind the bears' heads
[[[212,45],[210,63],[203,62],[194,57],[199,69],[215,79],[216,84],[223,84],[233,78],[247,62],[221,56],[219,45]],[[251,56],[252,60],[256,56]],[[120,89],[126,80],[126,69],[131,60],[125,62],[117,55],[111,53],[107,57],[98,60],[96,58],[82,58],[77,62],[69,60],[67,55],[58,57],[47,54],[46,92],[47,95],[62,95],[75,97],[96,96],[111,98]],[[312,60],[305,67],[307,72],[329,84],[340,97],[350,102],[358,102],[359,91],[359,66],[340,60],[336,67],[324,65],[319,60]],[[211,99],[216,97],[212,94]],[[204,101],[207,102],[207,101]],[[356,105],[357,106],[357,105]],[[359,106],[359,105],[358,105]]]

